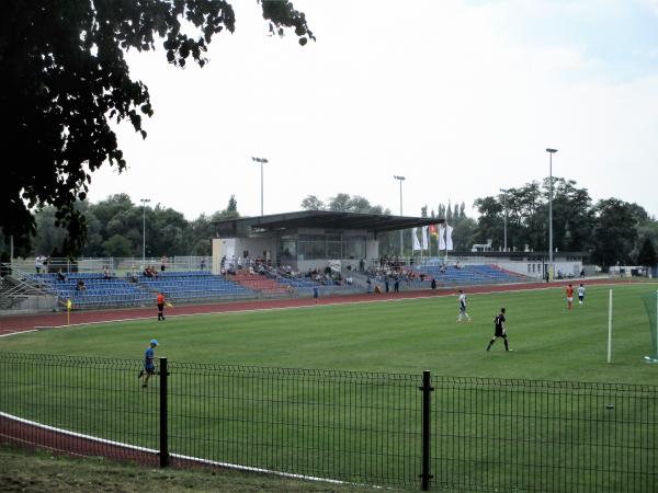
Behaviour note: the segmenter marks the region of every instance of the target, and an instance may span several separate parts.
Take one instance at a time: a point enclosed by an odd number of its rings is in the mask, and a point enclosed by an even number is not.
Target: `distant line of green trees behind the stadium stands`
[[[602,267],[620,264],[655,265],[657,262],[658,221],[639,205],[605,198],[593,203],[587,188],[572,180],[553,179],[553,245],[559,252],[586,252],[589,261]],[[490,243],[502,251],[507,229],[509,251],[548,250],[548,180],[531,182],[520,187],[500,191],[497,195],[477,198],[477,217],[466,214],[462,202],[428,205],[421,217],[445,219],[453,227],[455,252],[467,252],[474,243]],[[45,254],[50,256],[141,256],[143,228],[146,227],[146,255],[209,255],[215,236],[213,221],[240,217],[235,196],[225,209],[186,220],[183,214],[161,206],[143,207],[126,194],[107,197],[97,204],[76,203],[86,217],[87,238],[79,246],[70,241],[68,230],[58,227],[57,211],[44,206],[34,215],[36,233],[14,239],[18,256]],[[390,215],[381,205],[371,204],[359,195],[339,193],[328,199],[308,195],[302,200],[305,210]],[[507,225],[507,228],[506,228]],[[377,236],[382,255],[400,253],[398,231]],[[402,254],[411,255],[411,231],[402,232]],[[435,249],[435,245],[433,246]],[[8,238],[0,233],[0,255],[7,260]],[[432,254],[436,254],[435,250]]]

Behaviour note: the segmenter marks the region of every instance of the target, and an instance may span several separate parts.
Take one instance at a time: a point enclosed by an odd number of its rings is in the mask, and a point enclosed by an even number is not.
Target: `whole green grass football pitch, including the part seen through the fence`
[[[423,415],[418,385],[429,369],[433,488],[654,491],[649,386],[658,365],[644,360],[651,339],[640,295],[656,287],[612,286],[612,364],[610,286],[589,287],[585,305],[570,311],[564,288],[469,294],[473,321],[462,323],[456,295],[164,322],[154,313],[0,339],[0,404],[56,428],[157,448],[158,380],[144,391],[135,378],[156,337],[157,356],[171,362],[177,454],[413,488]],[[513,352],[498,341],[487,353],[501,307]]]

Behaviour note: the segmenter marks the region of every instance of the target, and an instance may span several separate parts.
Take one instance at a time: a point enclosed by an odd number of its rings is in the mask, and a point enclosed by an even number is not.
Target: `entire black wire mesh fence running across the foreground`
[[[0,353],[0,434],[439,491],[657,492],[658,387]]]

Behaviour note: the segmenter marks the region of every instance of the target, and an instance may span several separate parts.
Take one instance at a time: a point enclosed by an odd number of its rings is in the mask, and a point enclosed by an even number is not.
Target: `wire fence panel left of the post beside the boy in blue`
[[[0,434],[26,445],[157,462],[158,381],[143,388],[140,368],[135,360],[1,353]]]

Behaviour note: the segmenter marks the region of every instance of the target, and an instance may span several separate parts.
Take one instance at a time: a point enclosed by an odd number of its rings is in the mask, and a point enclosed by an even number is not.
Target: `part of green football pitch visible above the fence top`
[[[171,362],[375,372],[656,383],[642,294],[656,284],[588,287],[567,310],[564,288],[469,294],[472,322],[456,323],[456,296],[170,317],[71,326],[0,339],[0,351],[140,359],[150,339]],[[613,289],[612,364],[606,363]],[[467,291],[468,293],[468,291]],[[376,298],[374,298],[376,299]],[[485,351],[507,309],[511,353]]]

